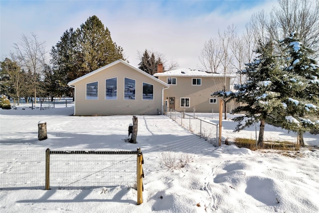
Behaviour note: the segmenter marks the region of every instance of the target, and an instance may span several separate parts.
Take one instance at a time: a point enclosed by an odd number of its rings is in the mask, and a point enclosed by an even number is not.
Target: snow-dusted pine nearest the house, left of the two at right
[[[235,117],[238,122],[235,131],[260,122],[258,147],[263,146],[265,124],[272,122],[272,112],[283,108],[280,100],[280,90],[285,84],[281,84],[279,57],[274,54],[274,45],[268,42],[263,45],[259,43],[255,51],[257,57],[252,63],[248,63],[246,69],[240,70],[240,74],[246,76],[245,84],[237,84],[235,93],[230,93],[232,99],[243,103],[235,108],[232,113],[244,113],[244,116]]]

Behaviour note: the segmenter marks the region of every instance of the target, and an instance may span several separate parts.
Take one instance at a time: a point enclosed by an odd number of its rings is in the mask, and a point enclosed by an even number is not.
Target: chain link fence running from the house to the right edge
[[[164,107],[164,114],[172,120],[179,123],[189,131],[196,135],[207,138],[212,141],[213,145],[217,146],[218,142],[218,128],[219,128],[219,113],[197,113],[192,108],[187,108],[188,112],[179,112],[174,109]],[[252,126],[245,128],[239,132],[234,132],[237,122],[232,121],[236,115],[227,113],[227,119],[222,120],[222,134],[221,141],[234,142],[236,138],[246,138],[251,140],[258,140],[260,123],[255,123]],[[280,127],[275,127],[266,124],[264,131],[264,141],[278,141],[278,142],[292,142],[297,143],[297,133],[288,131]],[[304,133],[304,141],[309,146],[319,146],[319,129],[314,128],[309,132]]]

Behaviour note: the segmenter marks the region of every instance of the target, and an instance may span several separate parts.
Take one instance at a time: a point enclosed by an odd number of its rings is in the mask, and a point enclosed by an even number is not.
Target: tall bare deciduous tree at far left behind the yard
[[[16,58],[24,70],[30,71],[33,78],[33,95],[36,103],[36,89],[38,87],[38,76],[43,71],[45,64],[45,46],[44,41],[40,42],[34,33],[31,36],[22,34],[21,39],[14,43]]]

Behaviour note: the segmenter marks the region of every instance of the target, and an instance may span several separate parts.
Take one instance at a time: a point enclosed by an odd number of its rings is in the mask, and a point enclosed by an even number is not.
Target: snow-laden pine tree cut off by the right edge
[[[310,57],[313,51],[296,37],[291,33],[280,41],[286,61],[283,70],[290,77],[286,93],[282,94],[285,110],[277,116],[283,128],[298,132],[300,145],[305,146],[303,134],[319,128],[319,121],[308,118],[319,112],[319,65]]]

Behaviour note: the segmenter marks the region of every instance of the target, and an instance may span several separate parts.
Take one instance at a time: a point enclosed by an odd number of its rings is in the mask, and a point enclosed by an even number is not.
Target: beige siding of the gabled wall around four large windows
[[[105,80],[117,77],[117,100],[105,99]],[[136,80],[135,100],[124,100],[124,78]],[[98,100],[86,100],[86,84],[98,81]],[[142,100],[143,82],[154,85],[153,100]],[[161,112],[163,85],[118,63],[74,84],[75,115],[155,115]]]

